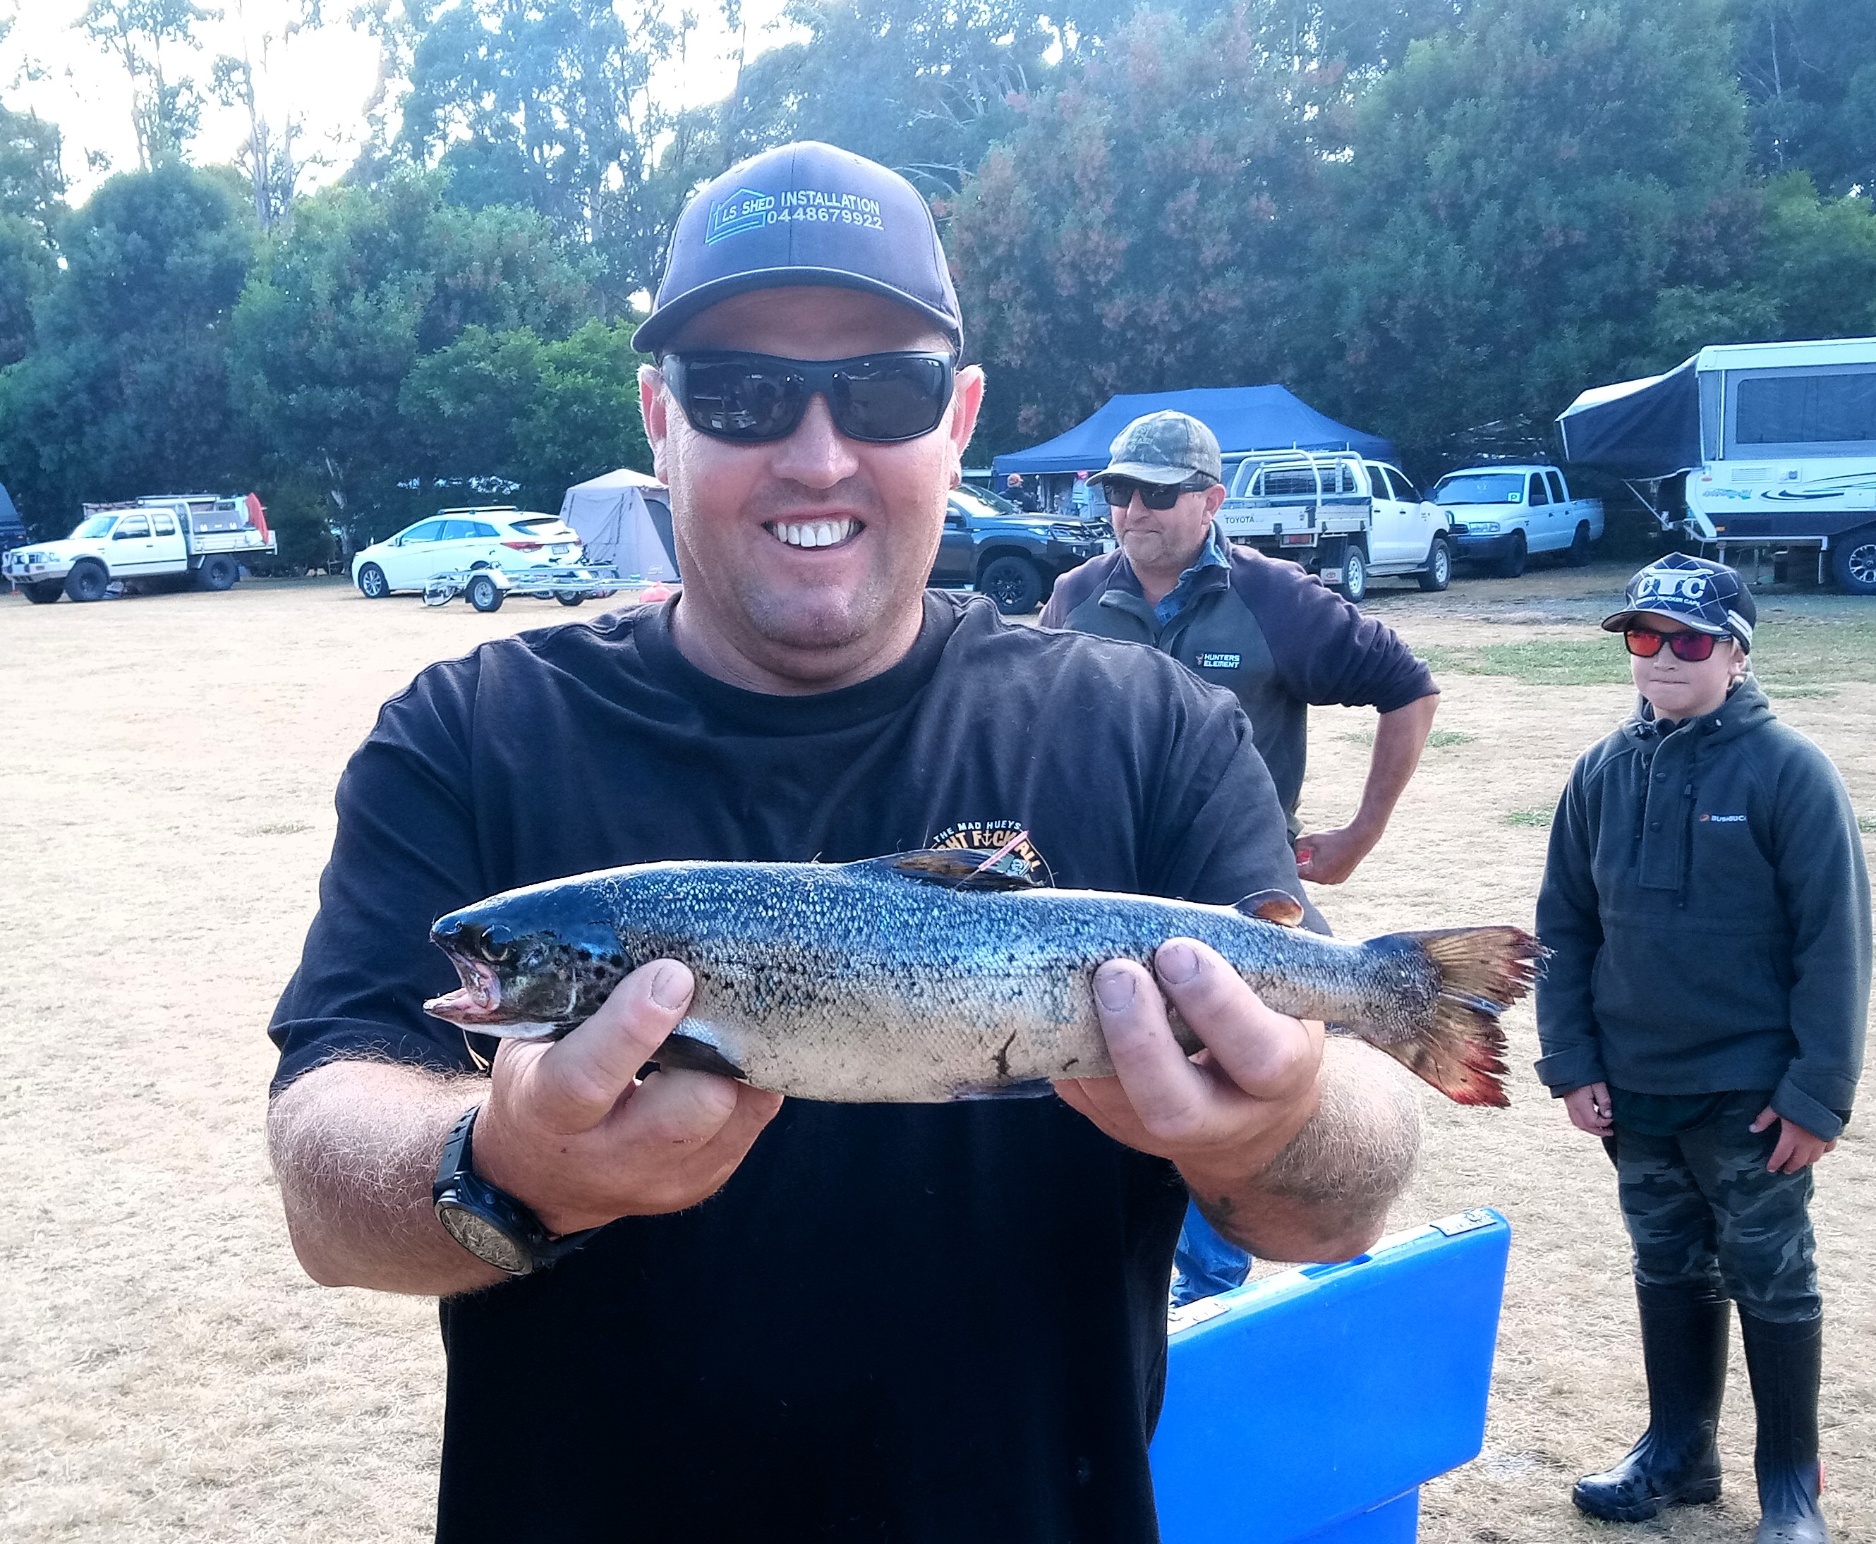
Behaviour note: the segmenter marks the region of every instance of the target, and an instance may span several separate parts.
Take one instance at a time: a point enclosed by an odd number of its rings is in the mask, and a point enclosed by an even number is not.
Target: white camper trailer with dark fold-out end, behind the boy
[[[1557,424],[1572,462],[1623,477],[1662,527],[1722,557],[1814,552],[1820,580],[1876,595],[1876,338],[1707,347],[1583,392]]]

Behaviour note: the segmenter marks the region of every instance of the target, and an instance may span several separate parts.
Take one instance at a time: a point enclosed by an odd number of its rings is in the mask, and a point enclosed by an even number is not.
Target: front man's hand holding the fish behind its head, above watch
[[[653,961],[565,1039],[503,1041],[477,1116],[477,1173],[553,1233],[715,1195],[782,1096],[694,1071],[636,1081],[694,989],[688,968]]]

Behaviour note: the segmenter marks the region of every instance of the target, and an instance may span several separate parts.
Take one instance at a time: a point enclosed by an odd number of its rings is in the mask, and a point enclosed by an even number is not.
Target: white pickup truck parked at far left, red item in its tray
[[[86,505],[62,542],[30,542],[0,559],[0,572],[36,606],[60,595],[101,600],[118,582],[231,589],[246,557],[278,552],[261,501],[248,493],[161,493]]]

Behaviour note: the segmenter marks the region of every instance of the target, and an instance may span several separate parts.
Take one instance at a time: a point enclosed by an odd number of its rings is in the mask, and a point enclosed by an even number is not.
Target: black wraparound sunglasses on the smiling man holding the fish
[[[786,439],[818,394],[848,439],[895,445],[938,428],[951,401],[951,355],[902,353],[857,358],[775,355],[666,355],[658,364],[690,428],[711,439],[762,445]]]

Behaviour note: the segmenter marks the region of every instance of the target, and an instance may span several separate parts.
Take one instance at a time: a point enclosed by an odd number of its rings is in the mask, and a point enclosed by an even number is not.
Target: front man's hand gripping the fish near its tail
[[[1066,1079],[1056,1092],[1114,1141],[1171,1158],[1208,1206],[1263,1173],[1315,1113],[1323,1026],[1266,1007],[1204,944],[1163,944],[1154,974],[1109,961],[1094,996],[1114,1077]],[[1204,1041],[1197,1056],[1172,1039],[1167,998]]]

